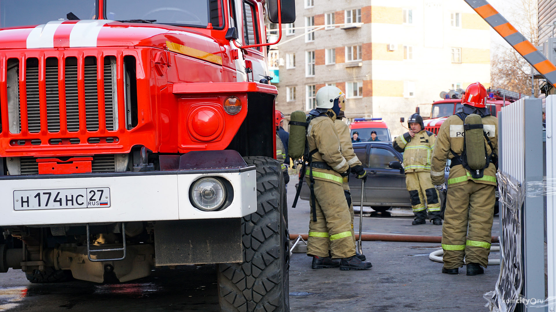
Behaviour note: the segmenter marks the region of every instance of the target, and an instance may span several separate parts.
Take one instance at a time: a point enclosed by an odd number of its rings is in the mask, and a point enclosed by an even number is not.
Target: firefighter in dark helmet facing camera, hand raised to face
[[[396,137],[392,145],[395,150],[404,153],[405,184],[415,214],[411,224],[425,224],[428,212],[433,224],[442,225],[438,190],[430,180],[430,157],[436,137],[425,130],[419,114],[409,117],[408,126],[411,130]]]

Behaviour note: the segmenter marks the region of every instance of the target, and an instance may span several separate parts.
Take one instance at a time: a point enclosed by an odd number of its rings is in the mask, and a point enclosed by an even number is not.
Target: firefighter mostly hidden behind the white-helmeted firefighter
[[[353,150],[353,144],[351,143],[351,136],[350,136],[350,128],[349,126],[342,120],[344,118],[344,107],[345,107],[345,99],[344,97],[340,98],[340,103],[342,104],[342,108],[340,110],[340,114],[334,120],[334,127],[336,128],[336,132],[338,133],[338,138],[340,139],[340,146],[342,150],[342,155],[347,160],[347,164],[351,167],[351,172],[359,175],[358,173],[366,175],[365,169],[363,168],[363,164],[355,152]],[[366,178],[364,178],[366,181]],[[353,237],[353,241],[355,244],[355,232],[353,230],[353,219],[354,219],[354,212],[353,212],[353,204],[351,203],[351,190],[349,188],[349,180],[344,178],[344,195],[347,200],[347,205],[349,206],[349,213],[351,215],[351,235]],[[365,261],[367,258],[365,255],[359,254],[357,250],[355,250],[356,255],[359,259]]]

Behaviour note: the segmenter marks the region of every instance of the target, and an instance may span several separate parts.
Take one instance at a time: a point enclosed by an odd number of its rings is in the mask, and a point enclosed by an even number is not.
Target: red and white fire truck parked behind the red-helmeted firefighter
[[[437,134],[444,120],[461,110],[461,97],[464,94],[463,89],[441,92],[440,97],[443,100],[438,100],[432,104],[430,117],[423,116],[423,119],[425,119],[423,120],[425,130]],[[500,112],[502,107],[515,102],[521,97],[520,93],[499,88],[489,88],[487,94],[486,106],[490,109],[490,114],[493,116],[498,116],[498,112]],[[419,113],[420,108],[417,107],[415,111]]]

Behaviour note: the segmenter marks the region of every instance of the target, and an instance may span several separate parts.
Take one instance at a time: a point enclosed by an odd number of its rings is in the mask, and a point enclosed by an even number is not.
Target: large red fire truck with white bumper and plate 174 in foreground
[[[222,311],[289,311],[264,2],[0,3],[0,272],[217,263]]]

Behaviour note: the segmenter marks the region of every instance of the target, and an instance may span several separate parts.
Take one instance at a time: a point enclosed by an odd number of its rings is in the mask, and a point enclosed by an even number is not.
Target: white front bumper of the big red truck
[[[190,201],[192,184],[204,177],[230,182],[233,198],[219,211],[202,211]],[[110,207],[16,210],[14,191],[110,188]],[[0,226],[241,218],[256,212],[255,167],[137,173],[0,177]]]

